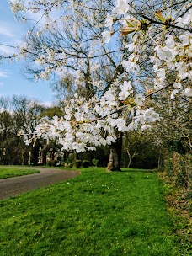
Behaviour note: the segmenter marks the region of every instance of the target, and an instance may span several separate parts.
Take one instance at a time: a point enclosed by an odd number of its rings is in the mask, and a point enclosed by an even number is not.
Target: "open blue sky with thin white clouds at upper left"
[[[22,44],[22,38],[27,31],[26,24],[21,24],[14,19],[14,15],[8,8],[8,0],[0,0],[0,43],[7,45]],[[13,51],[0,45],[0,55],[3,52]],[[38,83],[29,82],[22,75],[24,64],[14,62],[0,64],[0,96],[24,95],[29,99],[36,99],[42,103],[54,102],[49,81]]]

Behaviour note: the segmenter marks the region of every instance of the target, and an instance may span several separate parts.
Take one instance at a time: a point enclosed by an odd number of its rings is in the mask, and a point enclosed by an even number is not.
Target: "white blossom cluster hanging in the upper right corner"
[[[130,0],[116,0],[115,8],[112,11],[112,15],[108,16],[105,21],[105,26],[109,28],[104,31],[105,43],[109,43],[113,32],[114,21],[120,20],[123,26],[121,29],[122,34],[128,35],[135,32],[131,36],[131,43],[126,45],[126,48],[131,53],[127,60],[122,61],[123,67],[127,72],[140,72],[139,59],[145,55],[147,41],[150,41],[152,45],[152,56],[150,61],[153,63],[154,78],[154,91],[158,91],[161,88],[168,85],[168,75],[170,72],[174,72],[173,91],[170,95],[171,99],[175,99],[177,93],[186,97],[192,96],[192,88],[184,86],[183,81],[188,80],[187,84],[192,80],[192,9],[184,14],[183,17],[177,19],[170,19],[172,28],[172,34],[169,31],[165,32],[162,27],[159,29],[158,35],[153,38],[152,24],[147,24],[145,31],[141,29],[141,21],[136,19],[134,15],[129,14],[130,10],[133,12],[133,8]],[[131,9],[132,8],[132,9]],[[166,19],[160,12],[158,16],[161,20]],[[165,26],[164,26],[165,27]],[[186,29],[189,28],[189,29]]]

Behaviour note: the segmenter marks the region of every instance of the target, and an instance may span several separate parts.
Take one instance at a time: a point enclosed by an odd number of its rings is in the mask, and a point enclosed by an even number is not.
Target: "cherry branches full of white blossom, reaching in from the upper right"
[[[53,74],[62,77],[67,65],[71,65],[76,69],[77,80],[84,83],[83,69],[99,71],[100,67],[95,67],[93,60],[100,60],[102,56],[109,59],[112,54],[108,51],[109,45],[121,42],[125,46],[117,56],[121,72],[115,72],[105,88],[104,80],[94,81],[92,77],[97,93],[89,97],[75,93],[65,104],[63,116],[42,120],[34,137],[56,136],[66,150],[94,150],[118,141],[117,133],[150,129],[161,117],[149,99],[163,90],[170,92],[170,100],[192,96],[190,1],[9,2],[17,18],[24,22],[27,13],[38,14],[39,20],[29,30],[26,44],[19,48],[17,56],[33,56],[34,65],[38,67],[36,79],[50,79]],[[56,26],[61,28],[64,22],[67,29],[71,29],[72,40],[78,41],[75,51],[70,50],[69,55],[66,54],[68,49],[62,47],[56,51],[54,41],[50,45],[42,44],[35,53],[30,51],[34,31],[42,38],[48,32],[54,33]],[[83,48],[86,45],[83,42],[87,42],[87,48]],[[117,53],[115,46],[114,51]],[[88,67],[91,62],[93,65]],[[115,154],[111,155],[110,163],[114,162],[113,157]]]

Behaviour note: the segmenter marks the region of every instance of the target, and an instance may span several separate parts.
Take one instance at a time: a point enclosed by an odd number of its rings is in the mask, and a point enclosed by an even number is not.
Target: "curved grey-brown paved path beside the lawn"
[[[20,169],[24,167],[17,168]],[[28,168],[29,167],[27,167],[27,169]],[[39,189],[41,187],[45,187],[50,184],[55,184],[63,180],[72,179],[80,174],[80,172],[77,171],[64,171],[54,168],[32,169],[39,170],[40,173],[34,173],[8,179],[0,179],[0,200],[7,199],[8,197],[14,195],[19,195],[25,191]]]

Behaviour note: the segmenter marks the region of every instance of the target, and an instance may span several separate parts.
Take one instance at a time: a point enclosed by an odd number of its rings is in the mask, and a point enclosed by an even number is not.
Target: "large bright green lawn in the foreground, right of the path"
[[[104,168],[0,202],[1,256],[174,256],[157,173]]]

